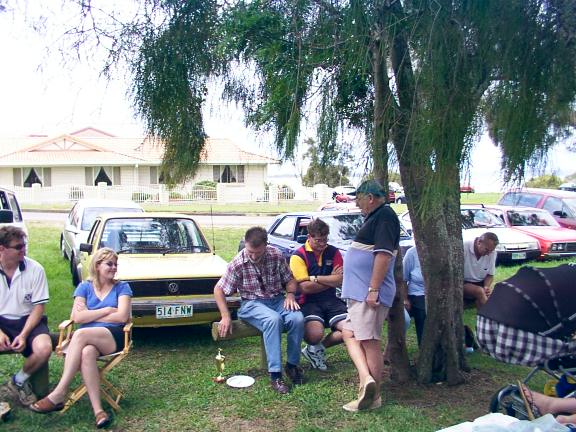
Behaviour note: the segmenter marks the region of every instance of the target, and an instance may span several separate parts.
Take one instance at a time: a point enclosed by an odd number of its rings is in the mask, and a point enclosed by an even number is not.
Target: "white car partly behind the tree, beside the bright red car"
[[[460,212],[464,240],[479,237],[487,231],[498,236],[499,244],[496,248],[498,263],[516,263],[540,256],[540,245],[534,238],[508,228],[500,218],[483,206],[461,206]],[[412,233],[410,214],[402,213],[400,220],[408,232]]]

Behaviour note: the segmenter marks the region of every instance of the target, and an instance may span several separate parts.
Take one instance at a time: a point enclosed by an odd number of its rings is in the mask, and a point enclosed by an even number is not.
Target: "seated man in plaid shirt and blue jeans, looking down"
[[[278,393],[289,392],[282,380],[282,331],[287,331],[287,362],[284,368],[293,384],[302,384],[300,345],[304,337],[304,317],[295,299],[298,282],[276,248],[268,246],[264,228],[252,227],[244,236],[245,247],[228,264],[214,287],[214,297],[222,319],[218,331],[225,337],[232,331],[226,296],[236,291],[242,298],[238,318],[262,332],[268,359],[271,386]],[[286,295],[284,295],[286,286]]]

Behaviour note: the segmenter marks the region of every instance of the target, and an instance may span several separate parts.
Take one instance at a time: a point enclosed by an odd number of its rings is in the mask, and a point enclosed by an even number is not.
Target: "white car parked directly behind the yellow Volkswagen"
[[[60,234],[60,251],[64,258],[70,260],[70,274],[74,286],[81,280],[81,275],[76,270],[80,243],[86,242],[96,216],[104,212],[126,211],[143,212],[144,209],[139,204],[127,200],[80,199],[74,204]]]

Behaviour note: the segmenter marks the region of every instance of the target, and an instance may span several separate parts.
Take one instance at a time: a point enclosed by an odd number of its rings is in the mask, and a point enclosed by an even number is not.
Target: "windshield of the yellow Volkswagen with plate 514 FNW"
[[[210,252],[194,221],[182,218],[110,219],[104,226],[100,245],[118,253]]]

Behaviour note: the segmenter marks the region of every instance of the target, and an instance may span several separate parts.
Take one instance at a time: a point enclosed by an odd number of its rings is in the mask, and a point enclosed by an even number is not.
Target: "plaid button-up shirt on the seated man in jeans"
[[[238,291],[242,300],[270,299],[284,294],[284,285],[294,277],[282,253],[267,246],[262,260],[255,264],[242,249],[228,264],[217,287],[227,296]]]

